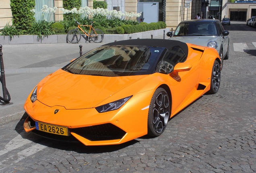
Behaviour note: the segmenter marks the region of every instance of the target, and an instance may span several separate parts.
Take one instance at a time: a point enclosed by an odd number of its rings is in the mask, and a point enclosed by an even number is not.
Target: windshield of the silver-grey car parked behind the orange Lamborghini
[[[184,22],[176,28],[173,36],[217,36],[213,22]]]

